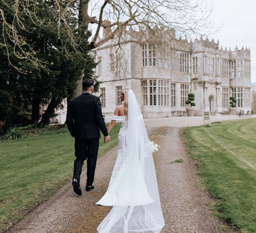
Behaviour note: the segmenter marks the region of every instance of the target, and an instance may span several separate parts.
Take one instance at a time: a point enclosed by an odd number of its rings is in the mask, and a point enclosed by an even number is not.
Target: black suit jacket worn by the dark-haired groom
[[[100,98],[85,92],[70,100],[67,126],[71,135],[77,139],[99,138],[100,130],[107,136]]]

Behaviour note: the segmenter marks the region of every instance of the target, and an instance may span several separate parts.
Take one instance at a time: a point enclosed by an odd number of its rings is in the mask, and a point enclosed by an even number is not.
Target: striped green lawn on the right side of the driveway
[[[213,214],[256,232],[256,119],[188,127],[184,136],[205,189],[216,197]]]

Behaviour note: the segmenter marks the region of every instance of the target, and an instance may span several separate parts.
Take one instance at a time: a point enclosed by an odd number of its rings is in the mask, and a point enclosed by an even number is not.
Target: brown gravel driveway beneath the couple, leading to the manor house
[[[235,118],[224,116],[222,120]],[[181,127],[202,123],[202,116],[145,119],[150,139],[161,145],[153,156],[166,224],[162,232],[224,232],[219,227],[224,223],[209,214],[207,202],[211,199],[199,188],[196,164],[182,143]],[[73,192],[70,181],[8,232],[97,232],[111,207],[95,203],[107,190],[116,155],[117,147],[98,160],[94,190],[84,191],[85,169],[81,176],[82,196]],[[170,164],[180,158],[182,163]]]

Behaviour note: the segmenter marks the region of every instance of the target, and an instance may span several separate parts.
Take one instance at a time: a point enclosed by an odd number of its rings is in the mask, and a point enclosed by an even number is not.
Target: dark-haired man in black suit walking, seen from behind
[[[101,112],[100,98],[92,95],[94,80],[85,79],[82,83],[83,94],[70,100],[67,111],[67,126],[75,137],[74,192],[82,195],[80,175],[84,160],[87,159],[87,182],[85,191],[94,189],[92,185],[98,156],[100,130],[104,141],[110,141],[108,130]]]

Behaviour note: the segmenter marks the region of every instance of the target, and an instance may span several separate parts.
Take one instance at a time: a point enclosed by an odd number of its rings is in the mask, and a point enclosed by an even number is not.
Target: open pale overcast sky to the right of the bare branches
[[[208,0],[207,0],[208,1]],[[210,2],[210,0],[209,0]],[[251,81],[256,82],[256,1],[255,0],[213,0],[215,25],[222,25],[219,32],[209,37],[225,49],[233,51],[250,47]]]

